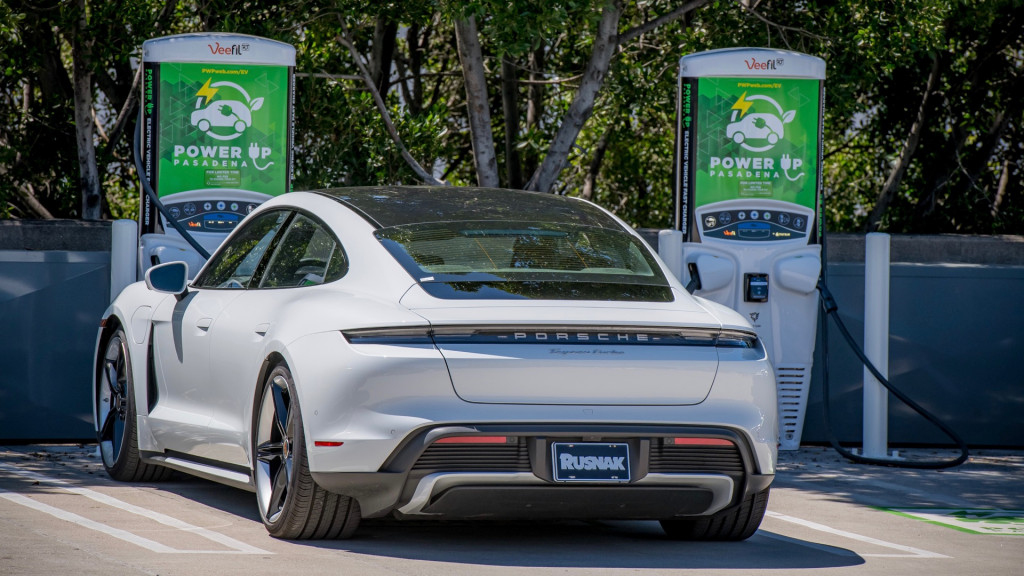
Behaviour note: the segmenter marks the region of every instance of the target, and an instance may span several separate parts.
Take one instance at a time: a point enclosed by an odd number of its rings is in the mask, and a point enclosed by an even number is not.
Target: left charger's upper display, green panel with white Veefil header
[[[171,36],[143,43],[143,64],[145,162],[161,197],[289,191],[293,46],[240,35]]]

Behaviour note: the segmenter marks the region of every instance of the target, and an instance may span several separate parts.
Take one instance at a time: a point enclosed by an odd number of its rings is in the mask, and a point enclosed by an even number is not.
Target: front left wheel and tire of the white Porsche
[[[142,461],[138,451],[138,420],[131,357],[124,330],[106,338],[99,359],[94,402],[96,442],[106,474],[121,482],[157,482],[170,468]]]

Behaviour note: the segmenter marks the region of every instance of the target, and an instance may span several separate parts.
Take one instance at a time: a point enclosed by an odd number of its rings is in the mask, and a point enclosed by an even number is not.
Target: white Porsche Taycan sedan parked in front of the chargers
[[[604,209],[469,188],[292,193],[195,280],[104,314],[103,464],[256,493],[270,534],[360,518],[648,519],[743,539],[776,460],[772,368]]]

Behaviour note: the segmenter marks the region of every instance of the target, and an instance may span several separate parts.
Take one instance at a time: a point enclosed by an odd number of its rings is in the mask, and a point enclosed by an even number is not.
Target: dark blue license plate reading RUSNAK
[[[630,445],[555,443],[555,482],[629,482]]]

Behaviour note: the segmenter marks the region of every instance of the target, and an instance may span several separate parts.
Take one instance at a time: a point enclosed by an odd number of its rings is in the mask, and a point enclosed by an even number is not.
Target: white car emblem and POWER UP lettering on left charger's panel
[[[219,96],[218,93],[220,93]],[[216,99],[214,99],[215,97]],[[234,82],[226,80],[213,82],[213,78],[209,78],[203,87],[196,92],[196,109],[188,121],[211,138],[222,141],[233,140],[252,126],[252,113],[261,108],[263,108],[262,97],[250,97],[249,92]],[[252,160],[253,166],[257,170],[266,170],[273,165],[273,161],[268,161],[262,166],[259,162],[265,161],[270,153],[269,148],[260,147],[253,142],[249,145],[248,158]],[[213,161],[237,161],[242,158],[242,148],[234,146],[175,146],[175,163],[182,155],[193,160],[203,158]]]

